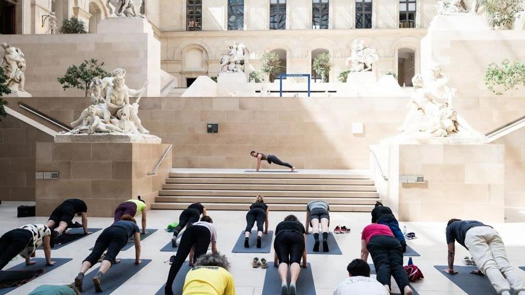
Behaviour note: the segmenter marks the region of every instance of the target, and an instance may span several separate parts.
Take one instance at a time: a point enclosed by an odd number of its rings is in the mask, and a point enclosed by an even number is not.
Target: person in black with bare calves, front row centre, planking
[[[306,230],[295,215],[288,215],[275,230],[274,266],[279,267],[281,295],[297,295],[296,282],[301,267],[307,267]],[[302,265],[299,265],[302,258]],[[287,286],[290,266],[290,288]]]

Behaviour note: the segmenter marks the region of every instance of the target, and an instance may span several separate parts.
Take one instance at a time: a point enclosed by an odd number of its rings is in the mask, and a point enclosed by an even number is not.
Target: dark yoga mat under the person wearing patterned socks
[[[93,285],[93,277],[97,274],[100,267],[90,271],[84,277],[82,295],[87,294],[98,294],[98,295],[108,295],[122,284],[133,277],[137,272],[142,268],[148,265],[151,262],[151,259],[141,259],[142,263],[135,265],[135,259],[122,259],[120,263],[114,264],[111,268],[104,273],[102,277],[102,292],[95,292],[95,285]]]

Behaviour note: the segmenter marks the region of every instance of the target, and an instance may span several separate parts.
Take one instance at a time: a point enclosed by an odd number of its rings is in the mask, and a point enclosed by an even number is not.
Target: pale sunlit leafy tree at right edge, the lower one
[[[525,64],[508,59],[503,60],[501,65],[491,62],[485,72],[485,85],[498,96],[518,85],[525,86]]]

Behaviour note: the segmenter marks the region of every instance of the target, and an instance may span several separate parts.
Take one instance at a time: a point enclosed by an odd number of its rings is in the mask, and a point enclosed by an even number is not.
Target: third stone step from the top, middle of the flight
[[[159,196],[227,196],[227,197],[379,197],[377,192],[339,192],[339,191],[263,191],[263,190],[208,190],[208,189],[161,189]]]

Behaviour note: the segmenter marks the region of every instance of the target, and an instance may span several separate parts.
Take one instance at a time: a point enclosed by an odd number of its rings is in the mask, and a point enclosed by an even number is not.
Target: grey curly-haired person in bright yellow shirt
[[[225,255],[202,255],[187,273],[182,295],[235,295],[229,266]]]

